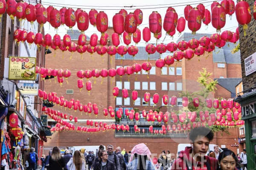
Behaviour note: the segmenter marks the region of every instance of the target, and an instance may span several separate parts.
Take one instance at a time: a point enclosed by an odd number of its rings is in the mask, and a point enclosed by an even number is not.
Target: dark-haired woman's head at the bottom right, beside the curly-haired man
[[[236,154],[232,150],[224,150],[218,156],[218,170],[236,170]]]

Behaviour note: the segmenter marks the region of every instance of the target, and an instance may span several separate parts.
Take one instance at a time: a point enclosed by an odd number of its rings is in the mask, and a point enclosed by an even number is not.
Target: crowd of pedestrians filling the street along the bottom
[[[207,155],[209,144],[213,139],[212,131],[207,127],[196,127],[188,134],[191,147],[178,152],[178,158],[172,158],[169,150],[163,150],[157,159],[157,166],[151,160],[151,152],[143,144],[137,144],[131,151],[121,147],[114,149],[109,144],[101,144],[96,154],[85,151],[85,148],[76,150],[73,155],[67,147],[64,156],[58,147],[53,147],[48,156],[42,155],[42,170],[245,170],[247,169],[246,149],[235,155],[231,150],[220,153],[218,145]],[[36,170],[38,156],[34,148],[30,149],[28,156],[29,170]]]

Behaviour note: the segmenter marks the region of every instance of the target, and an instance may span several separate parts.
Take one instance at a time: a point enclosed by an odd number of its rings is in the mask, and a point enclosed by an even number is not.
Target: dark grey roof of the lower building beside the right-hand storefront
[[[214,79],[216,80],[216,79]],[[224,79],[217,79],[218,84],[222,87],[226,88],[228,91],[231,92],[231,97],[236,97],[236,85],[241,82],[242,78],[224,78]]]

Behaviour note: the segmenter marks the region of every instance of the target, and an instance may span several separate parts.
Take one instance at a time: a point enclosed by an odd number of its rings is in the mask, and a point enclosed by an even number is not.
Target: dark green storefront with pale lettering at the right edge
[[[247,168],[254,170],[256,168],[256,90],[247,92],[234,101],[240,103],[242,120],[244,120]]]

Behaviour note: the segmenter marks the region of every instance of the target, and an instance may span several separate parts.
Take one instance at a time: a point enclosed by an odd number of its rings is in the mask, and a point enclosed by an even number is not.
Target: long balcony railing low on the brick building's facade
[[[145,132],[143,133],[143,129],[145,130]],[[154,130],[162,130],[162,128],[160,128],[160,127],[153,127],[153,131]],[[152,133],[151,132],[149,132],[149,128],[147,128],[147,127],[140,127],[140,133],[139,132],[136,132],[135,133],[135,130],[134,130],[134,127],[130,127],[129,128],[129,132],[127,131],[127,130],[125,130],[125,131],[123,131],[123,130],[115,130],[115,133],[116,133],[116,135],[152,135]],[[153,133],[154,134],[154,133]],[[158,134],[158,135],[160,135],[160,133]],[[170,132],[168,132],[167,130],[166,130],[166,135],[171,135],[171,136],[186,136],[186,132],[185,131],[183,131],[183,132],[172,132],[172,133],[170,133]]]

